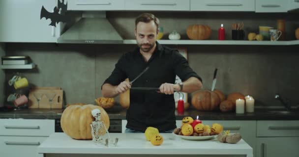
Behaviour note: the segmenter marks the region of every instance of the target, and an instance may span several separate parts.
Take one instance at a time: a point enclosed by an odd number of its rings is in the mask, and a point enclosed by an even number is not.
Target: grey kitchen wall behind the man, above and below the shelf
[[[254,13],[209,13],[168,12],[154,13],[164,32],[176,29],[186,38],[186,27],[191,24],[207,24],[212,28],[212,39],[223,23],[226,36],[230,38],[231,24],[243,22],[246,34],[258,32],[258,26],[276,26],[276,19],[286,18],[287,38],[295,37],[292,27],[295,16],[288,14]],[[107,17],[125,39],[134,39],[134,20],[139,13],[107,13]],[[268,15],[268,14],[267,14]],[[120,17],[121,16],[121,17]],[[186,18],[187,17],[187,18]],[[297,20],[298,21],[298,20]],[[248,30],[247,30],[248,29]],[[164,38],[168,35],[164,35]],[[185,36],[185,37],[184,37]],[[247,36],[247,35],[246,35]],[[246,37],[247,39],[247,37]],[[256,105],[282,106],[274,99],[275,93],[288,98],[292,105],[298,105],[298,49],[299,46],[241,46],[241,45],[168,45],[172,48],[186,48],[188,60],[194,71],[203,78],[204,88],[210,89],[213,71],[218,68],[216,89],[226,95],[240,92],[251,95]],[[31,85],[59,86],[65,91],[66,104],[94,103],[101,96],[100,87],[111,74],[121,54],[133,50],[135,45],[88,45],[51,43],[7,43],[6,55],[29,55],[37,68],[19,70]],[[0,54],[3,52],[0,51]],[[16,70],[5,70],[4,94],[14,92],[7,81]],[[3,71],[0,72],[2,75]],[[2,85],[2,84],[1,84]],[[3,89],[3,87],[1,87]],[[1,98],[1,94],[0,94]],[[0,100],[5,100],[0,99]],[[118,101],[118,98],[117,98]],[[2,102],[1,102],[2,103]]]

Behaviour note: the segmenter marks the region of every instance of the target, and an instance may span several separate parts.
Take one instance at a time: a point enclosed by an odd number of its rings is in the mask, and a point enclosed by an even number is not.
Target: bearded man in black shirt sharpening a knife
[[[102,85],[103,97],[114,98],[131,87],[156,87],[155,90],[130,90],[126,112],[126,132],[144,132],[155,127],[160,132],[176,128],[174,90],[191,93],[201,89],[202,79],[189,67],[188,61],[175,49],[156,42],[159,20],[144,13],[135,20],[138,48],[123,54],[109,78]],[[144,69],[149,69],[132,84]],[[174,84],[176,75],[182,80]]]

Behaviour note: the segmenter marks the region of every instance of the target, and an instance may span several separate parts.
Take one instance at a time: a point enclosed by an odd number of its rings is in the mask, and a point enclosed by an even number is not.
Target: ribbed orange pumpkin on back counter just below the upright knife
[[[198,91],[193,94],[191,105],[197,110],[214,110],[218,109],[220,99],[215,92],[209,90]]]

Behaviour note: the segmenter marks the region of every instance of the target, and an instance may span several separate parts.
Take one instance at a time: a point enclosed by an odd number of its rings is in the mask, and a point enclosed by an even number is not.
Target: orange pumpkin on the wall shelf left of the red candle
[[[191,25],[187,28],[187,35],[192,40],[209,39],[211,35],[211,28],[205,25]]]

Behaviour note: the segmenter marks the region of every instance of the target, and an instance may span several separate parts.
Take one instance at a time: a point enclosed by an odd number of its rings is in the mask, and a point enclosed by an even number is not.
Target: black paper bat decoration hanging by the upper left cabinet
[[[48,12],[44,6],[42,6],[41,11],[40,11],[40,19],[42,18],[46,18],[47,19],[51,19],[51,23],[49,26],[55,26],[56,24],[58,24],[59,22],[63,22],[66,23],[68,21],[68,17],[65,15],[62,15],[59,13],[60,9],[61,9],[61,13],[66,11],[67,8],[67,3],[64,4],[63,2],[64,0],[62,0],[62,2],[60,2],[60,0],[58,0],[58,7],[55,6],[53,9],[53,13]]]

